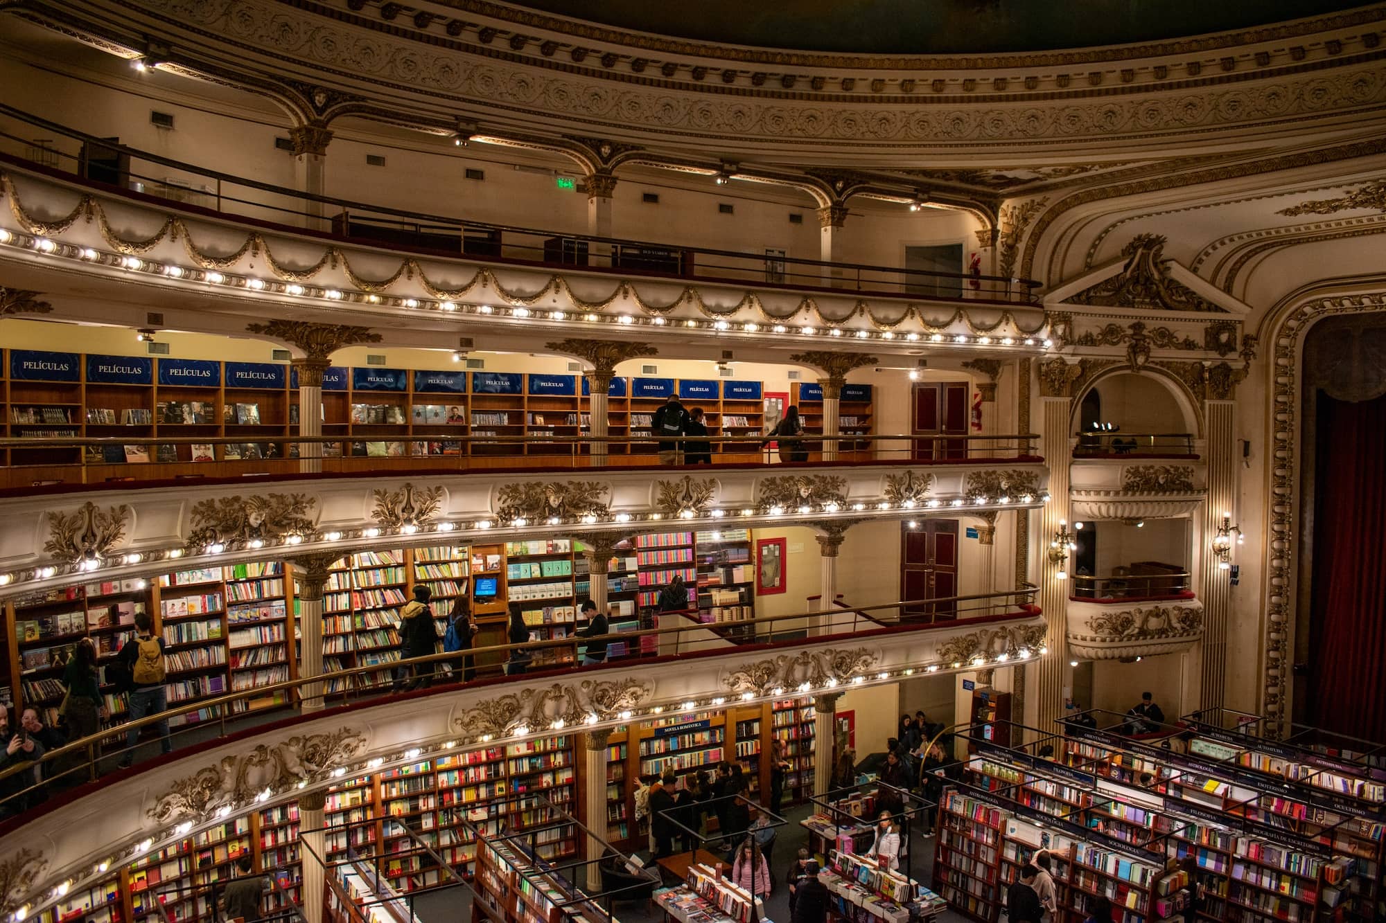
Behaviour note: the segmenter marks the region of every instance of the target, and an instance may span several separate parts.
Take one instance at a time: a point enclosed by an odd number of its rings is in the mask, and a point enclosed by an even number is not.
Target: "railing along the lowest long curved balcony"
[[[1003,613],[1006,615],[1033,615],[1040,611],[1034,606],[1035,593],[1038,593],[1035,586],[1026,585],[1020,589],[1001,590],[995,593],[952,596],[934,600],[898,600],[881,603],[879,606],[862,606],[857,607],[857,611],[863,615],[870,613],[875,619],[884,624],[884,626],[870,625],[868,631],[895,631],[901,628],[923,629],[931,628],[937,624],[956,624],[959,621],[988,617],[994,618],[997,617],[995,610],[998,607],[1008,610]],[[934,614],[918,614],[924,604],[929,604],[930,613],[941,608],[940,604],[947,604],[952,615],[944,617]],[[805,643],[805,636],[809,633],[809,628],[815,624],[815,619],[826,619],[827,615],[829,614],[826,613],[807,611],[787,615],[764,615],[740,619],[737,622],[719,622],[718,625],[739,629],[743,633],[740,639],[742,643],[755,643],[758,646],[793,646]],[[827,625],[826,621],[823,624]],[[633,664],[644,658],[671,656],[682,650],[707,650],[707,628],[708,625],[701,622],[692,622],[661,628],[639,628],[629,632],[613,632],[597,636],[596,639],[606,640],[608,644],[625,643],[628,653],[620,657],[611,657],[607,662],[620,660],[622,662],[631,661]],[[848,638],[852,635],[855,635],[854,629],[832,629],[823,631],[821,635],[815,635],[807,640],[821,642],[827,638]],[[644,638],[654,638],[656,643],[644,644],[640,640]],[[553,661],[534,662],[529,665],[528,671],[523,674],[525,678],[552,676],[559,672],[578,669],[578,647],[590,640],[595,639],[563,638],[553,640],[531,640],[518,644],[488,644],[466,651],[448,651],[407,660],[401,658],[366,667],[353,667],[349,669],[319,674],[309,678],[301,676],[298,679],[288,679],[277,683],[258,685],[252,689],[201,698],[186,705],[176,705],[158,714],[114,725],[89,737],[82,737],[61,747],[55,747],[40,754],[36,759],[26,759],[18,765],[11,764],[4,769],[0,769],[0,816],[10,816],[35,808],[54,789],[67,789],[87,782],[97,782],[101,777],[103,764],[107,764],[105,768],[109,769],[118,761],[126,757],[133,758],[137,755],[137,750],[141,746],[139,743],[140,732],[146,729],[157,729],[157,726],[164,722],[187,719],[188,715],[211,715],[211,718],[202,721],[182,723],[170,728],[170,740],[176,740],[179,736],[187,736],[190,741],[193,737],[197,737],[198,740],[207,739],[208,736],[225,737],[233,732],[233,725],[240,726],[241,722],[234,719],[236,715],[248,714],[249,704],[254,700],[266,700],[267,697],[277,697],[279,694],[283,694],[283,698],[286,700],[286,704],[283,705],[284,708],[301,708],[302,703],[308,700],[309,704],[315,705],[315,711],[312,711],[312,714],[316,717],[326,714],[324,711],[316,711],[316,708],[320,705],[328,705],[328,700],[335,700],[328,707],[346,705],[355,701],[395,692],[406,685],[423,687],[434,685],[439,687],[452,686],[457,683],[460,669],[464,665],[464,658],[473,660],[478,675],[496,676],[500,667],[513,658],[514,651],[520,650],[525,650],[531,654],[535,654],[535,651],[542,653],[553,650]],[[733,650],[735,647],[736,642],[725,642],[726,650]],[[536,656],[535,661],[538,660],[539,658]],[[592,667],[590,669],[596,668],[599,667]],[[333,689],[333,692],[328,692],[328,689]],[[245,726],[249,725],[245,723]],[[215,728],[215,735],[208,733],[209,728]],[[125,743],[126,735],[130,732],[136,733],[134,747],[128,747]],[[21,759],[24,758],[21,757]],[[30,772],[33,773],[32,777],[24,777],[24,773]],[[18,779],[18,782],[14,782],[14,779]]]

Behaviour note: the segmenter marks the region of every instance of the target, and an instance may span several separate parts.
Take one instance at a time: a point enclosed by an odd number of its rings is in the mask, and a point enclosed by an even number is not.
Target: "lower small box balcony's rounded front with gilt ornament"
[[[1171,654],[1203,636],[1203,603],[1196,599],[1146,606],[1070,599],[1066,608],[1069,650],[1088,660]]]

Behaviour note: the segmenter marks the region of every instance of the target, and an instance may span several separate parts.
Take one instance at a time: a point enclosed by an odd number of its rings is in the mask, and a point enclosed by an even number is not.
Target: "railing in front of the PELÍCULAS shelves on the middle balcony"
[[[179,431],[183,430],[179,425]],[[732,437],[592,437],[592,435],[396,435],[391,438],[297,437],[44,437],[0,438],[0,486],[161,481],[175,478],[287,475],[302,471],[309,453],[322,446],[320,468],[334,474],[496,468],[592,468],[661,464],[661,442],[683,446],[675,464],[827,464],[866,461],[938,463],[1040,460],[1038,435],[848,435],[805,434],[797,441],[772,441],[764,434]],[[606,455],[593,448],[606,445]],[[450,446],[449,453],[435,452]],[[450,453],[452,448],[456,453]],[[707,452],[703,452],[707,449]],[[791,452],[797,453],[791,455]],[[331,455],[328,455],[331,453]],[[198,457],[204,460],[197,460]],[[107,460],[111,459],[111,460]],[[132,460],[139,459],[139,460]]]

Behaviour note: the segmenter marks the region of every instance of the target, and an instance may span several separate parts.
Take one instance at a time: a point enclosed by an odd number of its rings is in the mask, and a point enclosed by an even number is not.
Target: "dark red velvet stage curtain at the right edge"
[[[1386,396],[1318,398],[1311,723],[1386,741]]]

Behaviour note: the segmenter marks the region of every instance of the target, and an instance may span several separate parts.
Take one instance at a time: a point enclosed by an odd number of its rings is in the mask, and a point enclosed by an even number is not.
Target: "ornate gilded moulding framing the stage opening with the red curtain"
[[[1264,498],[1265,608],[1261,619],[1261,714],[1272,729],[1290,721],[1289,671],[1295,650],[1297,565],[1295,542],[1300,517],[1300,353],[1315,320],[1333,315],[1386,310],[1386,292],[1315,298],[1272,317],[1265,340],[1272,351],[1267,369],[1265,430],[1270,470]]]

